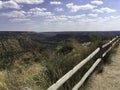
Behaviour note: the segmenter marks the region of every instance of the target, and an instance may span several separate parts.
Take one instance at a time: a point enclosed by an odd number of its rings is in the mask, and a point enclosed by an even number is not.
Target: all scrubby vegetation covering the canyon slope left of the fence
[[[56,42],[56,38],[41,36],[39,39],[39,35],[31,33],[4,33],[0,37],[0,90],[24,87],[45,90],[98,46],[102,38],[96,37],[100,36],[90,35],[87,43],[80,43],[80,38],[61,40],[57,37]],[[74,81],[77,82],[91,64],[87,63],[78,72],[80,77],[73,76]],[[71,83],[73,78],[60,89],[69,90],[75,83]]]

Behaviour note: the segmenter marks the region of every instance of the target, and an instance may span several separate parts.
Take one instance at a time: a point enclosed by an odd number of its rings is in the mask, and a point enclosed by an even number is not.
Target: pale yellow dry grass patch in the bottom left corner
[[[31,66],[24,66],[21,62],[15,62],[11,70],[0,71],[0,90],[20,90],[23,87],[41,90],[34,78],[43,70],[41,64],[32,63]]]

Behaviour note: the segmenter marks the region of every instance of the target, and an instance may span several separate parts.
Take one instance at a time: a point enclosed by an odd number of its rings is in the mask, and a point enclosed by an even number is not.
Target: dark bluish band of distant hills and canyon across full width
[[[59,43],[68,39],[76,39],[79,42],[88,42],[90,35],[115,36],[120,35],[120,31],[89,31],[89,32],[0,32],[0,38],[19,38],[27,37],[33,41],[41,43]]]

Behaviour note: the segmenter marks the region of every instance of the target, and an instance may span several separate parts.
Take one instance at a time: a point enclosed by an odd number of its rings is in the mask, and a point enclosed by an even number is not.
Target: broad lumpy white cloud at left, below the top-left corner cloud
[[[47,12],[46,8],[32,8],[28,11],[10,11],[6,13],[1,13],[0,16],[8,17],[8,18],[15,18],[15,19],[25,19],[25,18],[31,18],[31,17],[37,17],[37,16],[52,16],[51,12]]]

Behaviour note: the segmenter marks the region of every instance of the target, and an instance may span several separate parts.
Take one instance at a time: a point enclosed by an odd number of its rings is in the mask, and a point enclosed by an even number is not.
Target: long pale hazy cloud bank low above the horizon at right
[[[63,21],[62,21],[63,20]],[[120,29],[120,16],[98,17],[98,18],[81,18],[77,21],[64,20],[55,23],[46,21],[38,27],[43,31],[104,31]],[[87,27],[86,27],[87,26]],[[100,28],[98,28],[100,27]]]

